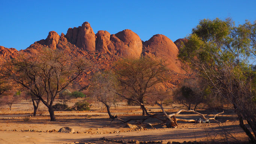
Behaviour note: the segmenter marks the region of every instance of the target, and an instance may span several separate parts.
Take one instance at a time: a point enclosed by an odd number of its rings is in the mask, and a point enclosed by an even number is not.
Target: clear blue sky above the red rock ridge
[[[254,21],[255,6],[255,0],[0,0],[0,45],[26,49],[49,31],[66,34],[85,21],[95,33],[131,29],[144,41],[154,34],[175,41],[203,18]]]

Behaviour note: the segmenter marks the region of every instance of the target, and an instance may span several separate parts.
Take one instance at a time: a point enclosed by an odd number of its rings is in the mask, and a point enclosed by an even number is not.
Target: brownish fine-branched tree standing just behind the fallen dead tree
[[[128,101],[136,102],[148,114],[145,108],[145,97],[158,95],[154,86],[168,79],[169,70],[164,61],[142,57],[136,60],[121,60],[117,62],[114,71],[121,89],[116,93]]]

